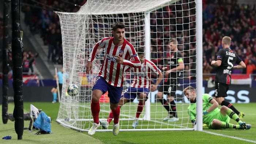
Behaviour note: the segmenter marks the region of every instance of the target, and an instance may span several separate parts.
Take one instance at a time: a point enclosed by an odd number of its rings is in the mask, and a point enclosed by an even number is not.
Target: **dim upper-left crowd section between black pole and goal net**
[[[44,45],[48,45],[48,60],[62,64],[62,44],[59,16],[53,11],[77,12],[86,0],[22,0],[25,24],[33,34],[40,34]]]

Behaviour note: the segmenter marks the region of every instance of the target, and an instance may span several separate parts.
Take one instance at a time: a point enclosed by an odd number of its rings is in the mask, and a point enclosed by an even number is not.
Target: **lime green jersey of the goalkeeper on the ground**
[[[203,94],[203,111],[207,111],[211,107],[211,100],[213,98],[209,94]],[[202,113],[203,113],[202,111]],[[210,113],[207,113],[203,115],[203,123],[209,124],[211,122],[214,115],[216,115],[219,112],[218,107],[211,111]],[[188,106],[188,114],[191,121],[196,120],[196,103],[190,103]]]

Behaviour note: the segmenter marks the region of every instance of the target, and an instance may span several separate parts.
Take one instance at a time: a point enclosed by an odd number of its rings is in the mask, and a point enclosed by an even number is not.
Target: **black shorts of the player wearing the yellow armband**
[[[158,92],[163,92],[163,94],[169,96],[175,96],[177,90],[177,83],[163,83],[158,87]]]

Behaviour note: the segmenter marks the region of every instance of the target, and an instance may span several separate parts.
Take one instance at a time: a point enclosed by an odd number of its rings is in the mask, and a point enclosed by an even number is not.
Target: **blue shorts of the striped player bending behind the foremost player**
[[[149,89],[148,88],[134,88],[134,87],[128,87],[124,92],[124,98],[129,99],[130,102],[132,102],[137,96],[140,95],[140,93],[144,93],[148,95]],[[146,98],[148,99],[148,97]]]

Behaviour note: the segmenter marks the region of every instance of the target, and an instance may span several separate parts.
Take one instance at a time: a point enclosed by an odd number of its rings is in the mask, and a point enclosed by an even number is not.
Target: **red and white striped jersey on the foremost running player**
[[[141,63],[131,43],[124,38],[123,44],[116,46],[113,43],[113,39],[114,37],[106,37],[97,42],[88,61],[93,61],[99,50],[105,48],[106,54],[98,76],[102,76],[112,86],[122,87],[124,84],[125,65],[139,67]],[[122,57],[123,64],[118,63],[115,56]],[[129,61],[130,59],[131,61]]]

